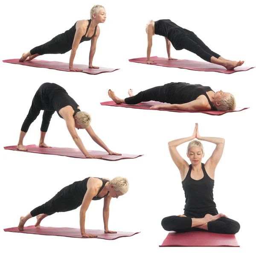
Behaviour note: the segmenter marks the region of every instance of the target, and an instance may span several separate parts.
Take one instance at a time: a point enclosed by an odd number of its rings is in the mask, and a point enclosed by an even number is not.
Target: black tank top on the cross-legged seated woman
[[[189,165],[189,172],[182,181],[182,187],[185,193],[184,211],[209,211],[216,208],[213,201],[214,180],[212,180],[202,164],[204,177],[201,180],[194,180],[191,177],[192,165]]]

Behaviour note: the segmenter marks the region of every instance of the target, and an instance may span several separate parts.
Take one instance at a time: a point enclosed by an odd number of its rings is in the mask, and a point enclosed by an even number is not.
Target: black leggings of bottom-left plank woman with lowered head
[[[39,214],[52,215],[55,212],[68,212],[78,208],[82,202],[77,201],[67,187],[64,187],[59,191],[52,199],[47,201],[45,204],[33,209],[30,214],[35,217]]]

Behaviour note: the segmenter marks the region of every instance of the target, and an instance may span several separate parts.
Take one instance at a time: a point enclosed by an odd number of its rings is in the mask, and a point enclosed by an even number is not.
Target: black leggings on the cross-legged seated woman
[[[192,226],[191,217],[169,216],[163,218],[162,227],[167,231],[188,232],[188,231],[207,231]],[[207,223],[208,232],[220,234],[236,234],[240,229],[240,224],[230,218],[219,218]]]

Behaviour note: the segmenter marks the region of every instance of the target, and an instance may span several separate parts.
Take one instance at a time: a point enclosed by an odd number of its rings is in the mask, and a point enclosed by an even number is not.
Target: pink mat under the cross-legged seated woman
[[[235,235],[216,234],[204,231],[193,231],[175,233],[171,231],[162,245],[159,247],[170,246],[209,246],[209,247],[240,247]]]

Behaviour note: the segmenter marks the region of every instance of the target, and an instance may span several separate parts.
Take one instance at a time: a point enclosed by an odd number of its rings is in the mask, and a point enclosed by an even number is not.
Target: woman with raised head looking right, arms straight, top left
[[[70,71],[83,71],[73,67],[73,61],[76,56],[76,50],[81,42],[90,41],[89,67],[93,66],[93,56],[96,51],[96,43],[99,38],[99,23],[104,23],[106,20],[106,10],[103,6],[96,5],[90,10],[90,20],[78,20],[75,25],[66,32],[55,36],[51,41],[33,48],[27,53],[23,53],[20,61],[31,61],[39,55],[57,54],[70,51],[69,68]]]

